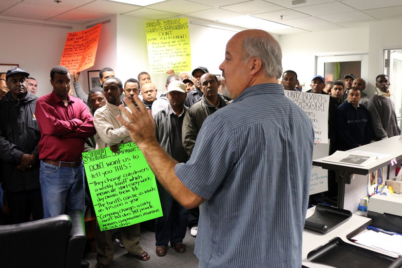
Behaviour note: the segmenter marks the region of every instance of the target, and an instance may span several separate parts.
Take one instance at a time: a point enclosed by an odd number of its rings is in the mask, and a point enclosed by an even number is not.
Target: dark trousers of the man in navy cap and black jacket
[[[33,220],[43,219],[42,195],[40,189],[6,192],[11,224],[28,222],[32,213]]]

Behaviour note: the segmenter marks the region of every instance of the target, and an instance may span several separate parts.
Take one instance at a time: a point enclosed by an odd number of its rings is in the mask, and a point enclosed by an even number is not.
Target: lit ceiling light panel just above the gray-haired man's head
[[[280,30],[280,29],[289,29],[293,28],[291,26],[287,26],[285,24],[273,22],[266,19],[258,19],[251,16],[239,16],[230,19],[221,19],[218,20],[219,22],[240,26],[243,28],[250,28],[250,29],[261,29],[265,31],[272,31],[272,30]]]

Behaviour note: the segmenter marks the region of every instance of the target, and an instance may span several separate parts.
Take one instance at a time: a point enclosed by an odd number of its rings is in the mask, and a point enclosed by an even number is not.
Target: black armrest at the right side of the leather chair
[[[79,268],[82,254],[85,248],[84,213],[81,210],[69,213],[73,227],[70,232],[70,240],[66,252],[66,268]]]

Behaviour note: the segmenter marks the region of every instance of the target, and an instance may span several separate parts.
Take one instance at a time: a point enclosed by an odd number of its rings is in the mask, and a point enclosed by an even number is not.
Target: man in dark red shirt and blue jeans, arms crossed
[[[38,99],[36,118],[40,188],[44,218],[84,210],[85,138],[95,135],[94,118],[82,100],[69,96],[71,79],[64,66],[50,71],[53,92]]]

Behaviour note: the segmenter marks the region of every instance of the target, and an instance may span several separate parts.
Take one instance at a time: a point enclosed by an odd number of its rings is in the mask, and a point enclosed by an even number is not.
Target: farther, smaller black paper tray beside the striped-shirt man
[[[317,204],[314,213],[306,219],[304,229],[327,233],[346,222],[352,212]]]

